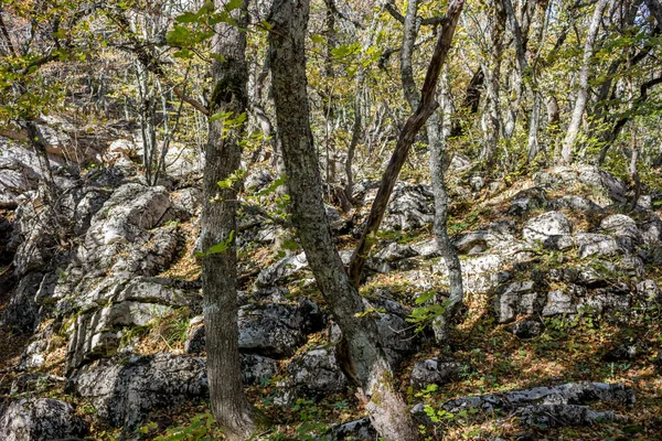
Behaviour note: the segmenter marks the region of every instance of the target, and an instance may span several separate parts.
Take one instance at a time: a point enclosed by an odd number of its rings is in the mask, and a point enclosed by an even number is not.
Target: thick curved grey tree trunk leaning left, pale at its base
[[[360,385],[375,429],[386,440],[415,440],[416,427],[393,380],[374,320],[364,313],[335,248],[322,202],[322,182],[309,120],[305,41],[308,0],[280,0],[271,8],[269,47],[276,103],[292,203],[292,223],[317,283],[343,333],[343,363]]]

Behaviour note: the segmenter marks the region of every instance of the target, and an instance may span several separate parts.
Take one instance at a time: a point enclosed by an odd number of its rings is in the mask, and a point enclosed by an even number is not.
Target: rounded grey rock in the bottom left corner
[[[31,398],[12,401],[6,409],[0,409],[0,439],[3,441],[73,441],[87,435],[88,431],[89,424],[64,401]]]

